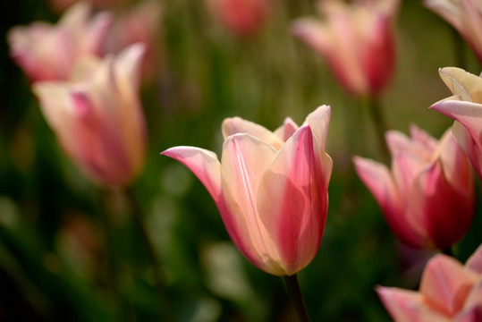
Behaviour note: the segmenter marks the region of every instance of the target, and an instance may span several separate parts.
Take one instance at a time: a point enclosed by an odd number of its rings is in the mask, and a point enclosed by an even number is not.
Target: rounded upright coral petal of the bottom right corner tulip
[[[438,254],[425,267],[420,293],[427,305],[452,317],[462,309],[477,279],[454,258]]]

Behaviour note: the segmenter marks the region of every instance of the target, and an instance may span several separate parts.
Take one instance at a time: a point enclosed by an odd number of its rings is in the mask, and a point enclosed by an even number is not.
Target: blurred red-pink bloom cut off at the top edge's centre
[[[213,15],[236,35],[249,36],[261,29],[272,0],[207,0]]]

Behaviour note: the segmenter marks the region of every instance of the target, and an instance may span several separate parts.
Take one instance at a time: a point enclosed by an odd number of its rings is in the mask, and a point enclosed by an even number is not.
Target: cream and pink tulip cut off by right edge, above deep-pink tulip
[[[482,78],[460,68],[445,67],[440,77],[453,96],[436,102],[430,108],[455,120],[452,133],[469,157],[478,178],[482,180]]]

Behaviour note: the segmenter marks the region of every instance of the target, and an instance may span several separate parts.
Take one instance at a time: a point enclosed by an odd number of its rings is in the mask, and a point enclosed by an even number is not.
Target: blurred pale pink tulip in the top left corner
[[[101,54],[112,17],[108,13],[91,17],[89,12],[89,5],[80,3],[55,26],[34,22],[9,31],[13,59],[31,81],[69,80],[79,57]]]

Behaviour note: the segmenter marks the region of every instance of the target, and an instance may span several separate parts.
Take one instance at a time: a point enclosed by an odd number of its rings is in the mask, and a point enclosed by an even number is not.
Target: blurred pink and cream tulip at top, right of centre
[[[395,64],[393,21],[399,0],[354,4],[319,3],[326,21],[300,18],[292,31],[324,56],[342,87],[357,96],[377,96],[392,79]]]

